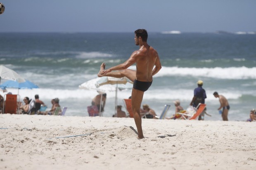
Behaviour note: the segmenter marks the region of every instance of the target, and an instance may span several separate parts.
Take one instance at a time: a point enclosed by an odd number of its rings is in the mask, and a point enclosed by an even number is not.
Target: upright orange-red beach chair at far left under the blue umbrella
[[[16,94],[6,94],[5,101],[3,105],[4,113],[17,114],[17,98],[19,95]]]

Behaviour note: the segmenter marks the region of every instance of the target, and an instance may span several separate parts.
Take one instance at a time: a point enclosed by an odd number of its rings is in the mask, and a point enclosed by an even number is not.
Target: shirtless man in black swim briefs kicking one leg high
[[[140,106],[144,92],[151,86],[153,75],[161,69],[161,62],[157,51],[147,44],[147,31],[145,29],[135,30],[135,44],[140,47],[133,51],[130,58],[122,64],[105,69],[105,63],[100,66],[98,77],[127,77],[133,81],[132,109],[134,121],[138,131],[138,139],[144,138],[141,126]],[[127,69],[136,63],[136,70]],[[155,67],[154,67],[155,66]],[[117,71],[117,72],[112,72]]]

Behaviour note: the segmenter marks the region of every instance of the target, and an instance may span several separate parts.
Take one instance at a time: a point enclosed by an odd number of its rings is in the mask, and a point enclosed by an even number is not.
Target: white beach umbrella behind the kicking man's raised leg
[[[133,82],[126,77],[114,78],[114,77],[98,77],[91,79],[79,86],[79,88],[95,89],[100,94],[106,91],[116,91],[115,95],[115,113],[117,107],[117,91],[127,88],[133,88]],[[100,105],[101,106],[101,105]]]

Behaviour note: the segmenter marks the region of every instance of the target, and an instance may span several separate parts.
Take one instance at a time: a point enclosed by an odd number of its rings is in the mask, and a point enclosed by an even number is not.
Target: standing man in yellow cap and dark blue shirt
[[[206,99],[206,92],[204,88],[202,88],[204,82],[202,80],[197,81],[197,88],[194,89],[194,97],[190,102],[190,105],[193,107],[197,107],[199,103],[204,103],[204,99]],[[201,120],[201,115],[198,117],[198,120]]]

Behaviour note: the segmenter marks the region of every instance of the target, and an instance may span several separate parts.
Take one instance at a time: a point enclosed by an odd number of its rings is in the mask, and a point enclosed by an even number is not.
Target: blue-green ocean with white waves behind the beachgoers
[[[138,49],[133,33],[0,33],[0,37],[0,64],[40,87],[7,88],[8,92],[19,93],[21,99],[38,94],[48,108],[52,98],[59,98],[60,105],[68,107],[67,116],[88,116],[87,106],[98,93],[79,85],[97,78],[102,62],[106,68],[123,63]],[[256,35],[149,33],[148,44],[158,51],[163,67],[142,104],[158,115],[165,104],[171,105],[167,116],[174,114],[176,99],[186,109],[199,79],[204,81],[207,112],[212,115],[205,120],[222,120],[214,91],[228,99],[229,120],[245,121],[256,108]],[[135,70],[134,65],[130,68]],[[114,89],[107,90],[103,116],[114,114]],[[130,95],[130,88],[118,91],[118,105]]]

